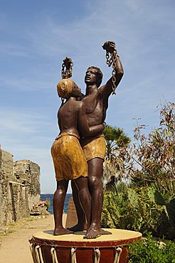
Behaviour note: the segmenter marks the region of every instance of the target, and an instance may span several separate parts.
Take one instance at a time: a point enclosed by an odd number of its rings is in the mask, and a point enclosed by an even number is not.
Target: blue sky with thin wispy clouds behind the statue
[[[159,124],[157,105],[174,102],[175,2],[173,0],[0,1],[0,144],[14,161],[41,166],[41,191],[53,193],[51,144],[63,58],[73,59],[73,80],[85,92],[90,65],[111,68],[102,44],[113,40],[124,67],[110,97],[107,124],[133,135],[135,121],[149,132]],[[70,188],[69,188],[70,191]]]

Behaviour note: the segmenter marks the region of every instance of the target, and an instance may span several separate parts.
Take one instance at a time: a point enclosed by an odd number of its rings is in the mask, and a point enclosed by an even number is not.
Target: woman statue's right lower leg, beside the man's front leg
[[[88,189],[88,177],[77,178],[74,182],[78,188],[78,197],[84,211],[87,227],[90,227],[91,198]]]

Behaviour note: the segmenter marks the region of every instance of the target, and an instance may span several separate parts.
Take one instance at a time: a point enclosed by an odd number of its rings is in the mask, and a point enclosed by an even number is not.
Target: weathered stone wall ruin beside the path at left
[[[27,217],[40,199],[40,167],[0,149],[0,225]]]

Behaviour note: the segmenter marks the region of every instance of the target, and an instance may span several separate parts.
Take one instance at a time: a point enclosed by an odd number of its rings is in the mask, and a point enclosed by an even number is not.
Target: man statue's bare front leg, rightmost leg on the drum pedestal
[[[88,161],[88,183],[92,202],[91,223],[85,238],[96,238],[100,235],[111,234],[108,231],[102,230],[100,226],[103,202],[102,163],[103,160],[100,158]]]

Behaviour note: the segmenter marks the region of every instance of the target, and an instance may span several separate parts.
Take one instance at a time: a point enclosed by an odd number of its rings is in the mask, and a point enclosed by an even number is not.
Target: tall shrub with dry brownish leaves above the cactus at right
[[[145,136],[143,126],[134,130],[136,143],[127,155],[127,171],[134,183],[148,186],[156,183],[161,192],[174,193],[175,175],[175,104],[161,105],[159,127]]]

